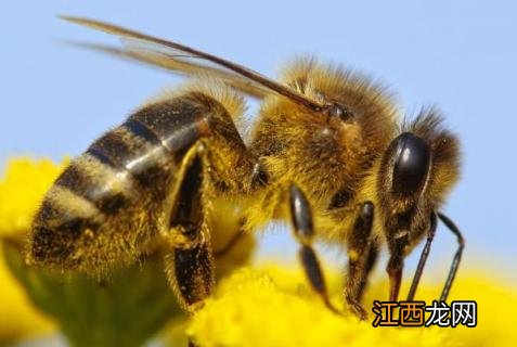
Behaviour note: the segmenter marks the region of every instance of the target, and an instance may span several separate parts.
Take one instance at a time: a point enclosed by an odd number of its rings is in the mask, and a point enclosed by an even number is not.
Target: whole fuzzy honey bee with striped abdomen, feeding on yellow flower
[[[435,108],[401,121],[385,88],[340,66],[299,60],[274,81],[172,41],[64,18],[121,39],[121,48],[90,48],[193,78],[72,160],[34,219],[30,264],[104,273],[158,243],[179,303],[194,312],[212,292],[215,253],[284,220],[308,282],[336,312],[313,243],[346,249],[344,301],[365,319],[361,297],[380,247],[389,252],[389,299],[397,300],[404,258],[426,240],[412,300],[441,220],[458,242],[447,299],[464,239],[439,210],[460,175],[460,145]],[[261,101],[248,139],[235,126],[244,95]],[[236,227],[221,230],[218,219]],[[214,250],[221,234],[233,236]]]

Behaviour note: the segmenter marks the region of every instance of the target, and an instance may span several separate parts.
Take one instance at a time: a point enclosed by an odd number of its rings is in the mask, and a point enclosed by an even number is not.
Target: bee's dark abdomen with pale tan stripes
[[[150,104],[75,158],[35,218],[34,260],[95,270],[134,258],[170,213],[164,202],[184,153],[210,133],[221,106],[204,101],[186,93]]]

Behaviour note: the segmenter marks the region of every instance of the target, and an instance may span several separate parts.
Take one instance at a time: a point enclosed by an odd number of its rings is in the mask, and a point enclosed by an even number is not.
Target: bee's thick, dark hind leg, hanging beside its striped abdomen
[[[214,256],[203,202],[203,145],[185,156],[186,166],[170,217],[170,229],[163,239],[170,252],[166,272],[180,305],[189,312],[203,306],[212,291]]]

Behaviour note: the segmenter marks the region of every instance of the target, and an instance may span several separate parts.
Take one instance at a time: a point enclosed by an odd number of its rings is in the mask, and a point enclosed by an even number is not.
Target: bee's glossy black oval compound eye
[[[403,195],[417,192],[427,178],[430,149],[426,141],[411,132],[393,140],[395,166],[392,191]]]

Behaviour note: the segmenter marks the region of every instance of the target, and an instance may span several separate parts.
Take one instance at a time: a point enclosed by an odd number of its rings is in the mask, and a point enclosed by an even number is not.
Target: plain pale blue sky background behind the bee
[[[501,266],[516,278],[517,7],[512,1],[3,2],[0,165],[15,155],[77,155],[142,101],[180,81],[59,44],[56,39],[117,42],[56,14],[170,38],[269,76],[289,57],[312,53],[391,86],[410,114],[436,103],[463,141],[463,179],[445,210],[466,235],[465,264]],[[286,244],[293,248],[288,234],[273,235],[262,252],[285,256]],[[439,229],[435,269],[444,271],[453,252],[454,239]],[[332,252],[328,258],[342,259]]]

